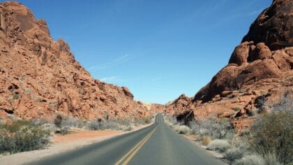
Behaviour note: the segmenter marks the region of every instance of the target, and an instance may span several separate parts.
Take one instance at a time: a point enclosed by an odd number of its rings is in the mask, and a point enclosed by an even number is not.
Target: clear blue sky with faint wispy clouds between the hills
[[[271,0],[20,0],[93,78],[135,100],[193,96],[227,64]]]

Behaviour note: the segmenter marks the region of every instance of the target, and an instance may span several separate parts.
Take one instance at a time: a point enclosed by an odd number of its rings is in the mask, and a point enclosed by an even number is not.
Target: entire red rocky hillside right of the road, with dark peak
[[[241,129],[245,122],[239,121],[251,119],[260,99],[273,104],[284,94],[293,100],[293,1],[273,0],[251,24],[227,66],[192,101],[180,96],[165,110],[229,117]]]

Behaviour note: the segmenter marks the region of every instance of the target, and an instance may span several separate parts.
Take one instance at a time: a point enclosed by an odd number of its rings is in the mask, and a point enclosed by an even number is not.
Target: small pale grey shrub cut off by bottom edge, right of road
[[[264,165],[264,159],[260,155],[246,155],[234,162],[235,165]]]

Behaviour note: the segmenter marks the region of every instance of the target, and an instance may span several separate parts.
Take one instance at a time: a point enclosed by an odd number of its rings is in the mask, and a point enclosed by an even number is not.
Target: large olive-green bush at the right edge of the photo
[[[293,162],[293,115],[286,112],[267,113],[250,128],[249,143],[259,155],[276,153],[280,163]]]

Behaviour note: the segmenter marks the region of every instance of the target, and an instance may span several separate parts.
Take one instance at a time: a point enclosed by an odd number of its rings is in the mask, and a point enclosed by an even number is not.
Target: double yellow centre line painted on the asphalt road
[[[128,164],[130,162],[130,160],[133,159],[134,155],[138,152],[138,150],[140,150],[140,148],[142,148],[142,145],[144,145],[144,143],[146,143],[147,140],[149,140],[149,138],[153,135],[153,133],[155,133],[157,127],[155,129],[153,129],[153,131],[151,131],[149,134],[147,134],[147,136],[144,137],[142,139],[142,141],[140,141],[140,143],[137,143],[137,145],[135,145],[134,148],[132,148],[130,151],[128,151],[126,153],[126,155],[121,157],[121,159],[119,159],[119,161],[116,162],[114,165],[119,165],[119,164],[126,165],[126,164]]]

